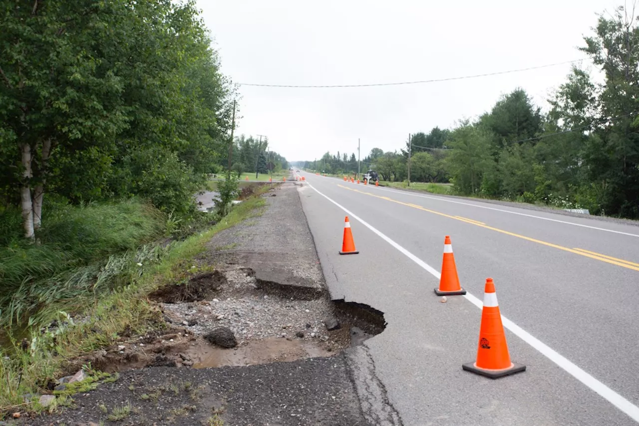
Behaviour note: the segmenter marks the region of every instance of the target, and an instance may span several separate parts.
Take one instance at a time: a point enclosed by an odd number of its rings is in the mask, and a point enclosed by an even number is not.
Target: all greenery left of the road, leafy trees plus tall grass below
[[[137,280],[233,158],[288,166],[244,136],[229,161],[239,95],[193,0],[4,2],[0,49],[1,329]]]

